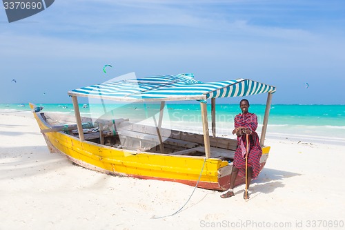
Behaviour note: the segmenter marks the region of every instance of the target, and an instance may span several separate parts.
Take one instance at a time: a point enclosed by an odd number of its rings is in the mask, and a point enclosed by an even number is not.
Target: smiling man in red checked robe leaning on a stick
[[[249,153],[247,164],[248,184],[246,189],[244,189],[244,199],[246,199],[246,190],[248,191],[249,189],[250,180],[257,178],[260,172],[262,148],[259,142],[259,135],[255,132],[257,129],[257,115],[248,112],[249,102],[247,99],[242,99],[239,102],[239,108],[241,108],[242,114],[239,113],[235,117],[233,134],[237,135],[237,149],[235,151],[233,171],[231,172],[230,189],[226,193],[221,194],[221,198],[230,198],[235,195],[233,189],[237,174],[239,173],[242,176],[246,175],[246,148],[248,145],[246,143],[246,135],[248,135]],[[247,198],[249,198],[249,195],[247,195]]]

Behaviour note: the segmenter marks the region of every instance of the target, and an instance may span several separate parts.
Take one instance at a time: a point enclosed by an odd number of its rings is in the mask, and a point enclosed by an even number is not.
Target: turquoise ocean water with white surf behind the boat
[[[37,104],[43,111],[74,115],[72,104]],[[155,115],[158,119],[160,104],[79,104],[82,116],[108,119],[128,118],[143,121]],[[249,111],[258,117],[261,131],[266,105],[251,104]],[[1,113],[30,111],[28,104],[0,104]],[[233,119],[240,113],[238,104],[217,104],[217,135],[231,135]],[[210,122],[210,104],[208,121]],[[201,131],[199,104],[166,104],[162,126],[191,128]],[[194,129],[194,130],[193,130]],[[286,105],[270,106],[267,138],[300,142],[325,142],[345,145],[345,105]]]

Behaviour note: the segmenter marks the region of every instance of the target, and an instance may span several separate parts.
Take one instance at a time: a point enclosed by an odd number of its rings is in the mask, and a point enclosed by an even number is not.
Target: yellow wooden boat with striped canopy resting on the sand
[[[270,146],[264,145],[268,114],[275,87],[250,79],[198,82],[192,74],[123,79],[68,92],[75,116],[42,113],[30,104],[51,153],[63,153],[87,169],[132,178],[181,182],[204,189],[224,191],[230,186],[230,173],[237,140],[216,135],[215,99],[268,93],[261,133],[266,164]],[[110,99],[117,102],[159,102],[159,118],[148,126],[121,119],[81,117],[77,97]],[[207,100],[211,102],[211,132],[208,128]],[[162,126],[167,101],[197,100],[201,106],[203,133],[172,130]],[[233,111],[234,115],[238,111]],[[59,123],[57,121],[59,120]],[[163,123],[164,124],[164,123]],[[245,178],[237,177],[236,185]]]

